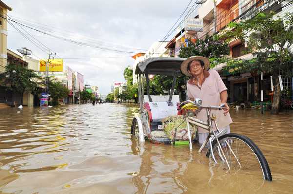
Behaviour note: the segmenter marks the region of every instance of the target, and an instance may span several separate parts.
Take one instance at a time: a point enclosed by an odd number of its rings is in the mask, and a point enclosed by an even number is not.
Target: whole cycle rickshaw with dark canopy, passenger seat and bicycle
[[[209,131],[209,136],[198,152],[206,150],[206,156],[211,157],[216,164],[225,166],[227,170],[245,171],[262,175],[263,179],[272,181],[272,175],[265,156],[256,144],[247,136],[220,131],[216,118],[210,115],[210,110],[221,110],[220,106],[203,106],[201,99],[184,101],[180,103],[179,96],[174,95],[176,79],[181,76],[181,63],[185,58],[148,58],[138,63],[135,74],[138,76],[140,116],[132,120],[131,136],[139,142],[145,139],[156,144],[176,143],[177,128],[186,123],[189,148],[192,150],[193,139],[190,134],[191,126],[199,126]],[[172,76],[170,95],[150,95],[150,75]],[[144,86],[146,84],[146,95]],[[162,128],[162,121],[168,116],[181,115],[184,111],[184,119],[174,131],[174,138],[169,138]],[[207,121],[199,120],[194,115],[188,114],[188,110],[206,111]],[[205,149],[205,147],[208,147]],[[227,168],[226,168],[227,167]]]

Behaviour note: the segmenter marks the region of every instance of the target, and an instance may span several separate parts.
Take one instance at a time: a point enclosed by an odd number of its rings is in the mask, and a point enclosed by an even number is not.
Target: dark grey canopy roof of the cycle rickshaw
[[[154,57],[139,62],[135,74],[148,75],[181,75],[180,66],[186,58]]]

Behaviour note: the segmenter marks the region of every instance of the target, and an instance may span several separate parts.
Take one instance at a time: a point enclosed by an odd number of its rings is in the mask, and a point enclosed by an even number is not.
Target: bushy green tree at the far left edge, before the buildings
[[[33,70],[26,69],[21,65],[9,64],[6,66],[6,71],[1,74],[0,81],[7,86],[6,90],[20,93],[21,104],[23,104],[23,93],[35,93],[39,78]]]

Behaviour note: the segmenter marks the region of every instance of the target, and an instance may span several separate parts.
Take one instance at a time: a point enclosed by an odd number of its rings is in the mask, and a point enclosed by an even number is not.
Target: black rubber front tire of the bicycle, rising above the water
[[[223,139],[227,139],[229,137],[243,141],[251,149],[251,151],[254,153],[254,155],[258,159],[258,162],[260,164],[264,179],[267,181],[272,181],[272,175],[271,175],[271,171],[270,171],[270,167],[268,165],[268,162],[267,162],[265,156],[263,155],[263,153],[261,152],[261,150],[257,147],[257,145],[247,136],[235,134],[235,133],[229,133],[229,134],[225,134],[223,136],[220,136],[218,138],[218,140],[219,140],[219,142],[221,142]],[[217,144],[218,144],[218,142],[215,139],[212,142],[213,150],[217,147]],[[210,150],[208,150],[206,156],[209,157],[210,155],[211,155]]]

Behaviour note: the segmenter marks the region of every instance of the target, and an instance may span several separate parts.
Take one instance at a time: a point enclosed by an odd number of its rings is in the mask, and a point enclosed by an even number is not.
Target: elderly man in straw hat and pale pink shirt
[[[222,111],[211,110],[211,115],[216,116],[216,121],[220,130],[226,129],[230,133],[229,124],[232,119],[229,114],[229,106],[227,105],[227,88],[223,83],[220,75],[215,70],[209,70],[209,59],[202,56],[193,56],[186,59],[181,65],[181,71],[191,78],[187,84],[188,97],[190,100],[195,98],[202,99],[204,106],[218,106],[225,104],[226,109]],[[207,121],[205,111],[197,113],[197,118]],[[208,136],[208,131],[198,129],[199,143],[203,144]]]

